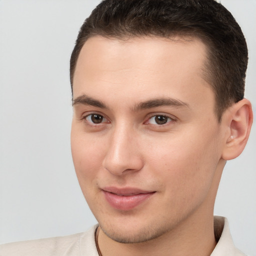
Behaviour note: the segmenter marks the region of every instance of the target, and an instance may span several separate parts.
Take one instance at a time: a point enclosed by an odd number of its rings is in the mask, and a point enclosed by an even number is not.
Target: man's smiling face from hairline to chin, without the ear
[[[222,128],[197,40],[89,38],[73,80],[71,150],[113,240],[159,237],[212,214]]]

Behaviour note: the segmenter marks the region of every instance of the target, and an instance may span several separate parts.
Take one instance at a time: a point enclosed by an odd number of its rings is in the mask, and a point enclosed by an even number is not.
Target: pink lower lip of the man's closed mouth
[[[115,209],[130,210],[148,199],[154,192],[134,195],[117,195],[103,190],[107,202]]]

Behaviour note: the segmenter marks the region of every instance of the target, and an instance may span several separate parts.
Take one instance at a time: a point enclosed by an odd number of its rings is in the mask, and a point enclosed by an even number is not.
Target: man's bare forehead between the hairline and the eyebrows
[[[167,96],[185,101],[198,89],[209,89],[202,75],[205,59],[206,46],[195,38],[119,40],[93,36],[84,43],[77,59],[73,95],[89,91],[90,96],[104,94],[111,99],[111,92],[115,97],[134,99],[135,93],[142,101],[156,93],[169,93]]]

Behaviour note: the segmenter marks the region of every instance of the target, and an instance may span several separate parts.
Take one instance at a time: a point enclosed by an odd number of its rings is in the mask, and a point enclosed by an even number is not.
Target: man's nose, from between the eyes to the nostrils
[[[138,135],[132,128],[115,127],[109,136],[103,167],[113,175],[138,171],[143,166]]]

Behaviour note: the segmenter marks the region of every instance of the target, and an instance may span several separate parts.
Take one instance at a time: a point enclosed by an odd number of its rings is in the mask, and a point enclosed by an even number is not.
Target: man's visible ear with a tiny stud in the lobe
[[[230,160],[237,157],[244,149],[252,125],[252,107],[246,98],[234,103],[224,114],[227,127],[222,158]]]

